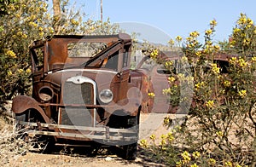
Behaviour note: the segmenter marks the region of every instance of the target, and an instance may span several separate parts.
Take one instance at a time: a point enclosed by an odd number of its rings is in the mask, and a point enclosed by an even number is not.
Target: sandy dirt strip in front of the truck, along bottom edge
[[[70,155],[54,155],[54,154],[39,154],[26,153],[25,156],[20,156],[15,162],[10,163],[11,166],[162,166],[160,164],[144,162],[142,158],[137,158],[135,161],[126,161],[114,155],[88,157],[73,157]]]

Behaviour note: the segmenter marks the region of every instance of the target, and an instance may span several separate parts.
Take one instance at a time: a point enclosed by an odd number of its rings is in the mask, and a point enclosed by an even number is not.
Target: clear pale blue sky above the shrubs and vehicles
[[[70,0],[70,5],[82,10],[87,18],[101,19],[101,0]],[[167,43],[177,36],[189,36],[200,32],[200,41],[209,28],[210,20],[216,20],[213,40],[228,40],[240,14],[247,14],[256,21],[255,0],[102,0],[103,20],[119,23],[126,32],[137,32],[141,40]]]

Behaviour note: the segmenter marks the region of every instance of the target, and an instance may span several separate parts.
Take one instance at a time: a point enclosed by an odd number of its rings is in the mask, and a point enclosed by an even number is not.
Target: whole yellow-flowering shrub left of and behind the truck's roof
[[[86,20],[67,9],[68,1],[61,1],[61,18],[53,17],[47,1],[1,0],[0,20],[0,101],[30,90],[29,46],[33,41],[53,34],[113,34],[119,26]],[[57,28],[56,28],[57,27]],[[0,105],[1,106],[1,105]]]

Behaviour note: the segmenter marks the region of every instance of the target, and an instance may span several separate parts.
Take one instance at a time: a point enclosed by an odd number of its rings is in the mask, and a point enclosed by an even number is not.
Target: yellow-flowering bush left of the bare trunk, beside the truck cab
[[[25,94],[30,89],[30,56],[28,47],[38,40],[42,27],[49,21],[44,12],[46,2],[4,1],[0,17],[0,101],[10,100],[17,93]],[[37,20],[40,18],[41,20]],[[42,29],[38,29],[40,26]]]

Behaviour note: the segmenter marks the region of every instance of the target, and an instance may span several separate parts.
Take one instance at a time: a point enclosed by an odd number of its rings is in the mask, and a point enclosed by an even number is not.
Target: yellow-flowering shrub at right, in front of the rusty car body
[[[256,161],[256,26],[241,14],[226,47],[212,42],[215,26],[217,21],[212,20],[204,33],[205,43],[197,40],[196,31],[185,41],[176,37],[184,46],[179,63],[188,61],[191,72],[171,72],[170,88],[163,93],[178,106],[186,101],[178,93],[181,83],[191,83],[193,102],[188,103],[189,115],[182,127],[172,133],[172,142],[150,148],[172,166],[245,166]],[[214,59],[225,53],[232,55],[225,64]],[[173,122],[170,119],[164,121],[167,126]]]

